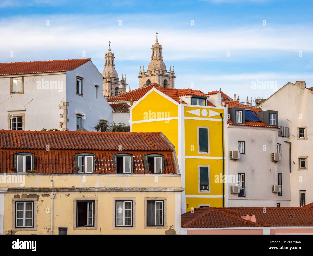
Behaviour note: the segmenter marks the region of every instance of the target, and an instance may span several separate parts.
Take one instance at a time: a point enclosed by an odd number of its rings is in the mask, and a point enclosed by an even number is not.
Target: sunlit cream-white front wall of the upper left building
[[[12,76],[11,76],[12,77]],[[14,76],[21,77],[21,76]],[[9,130],[8,114],[25,114],[25,130],[41,130],[43,128],[59,129],[59,103],[65,97],[66,75],[36,74],[23,75],[24,93],[10,95],[10,76],[0,77],[0,129]],[[62,82],[63,90],[38,90],[37,81]]]

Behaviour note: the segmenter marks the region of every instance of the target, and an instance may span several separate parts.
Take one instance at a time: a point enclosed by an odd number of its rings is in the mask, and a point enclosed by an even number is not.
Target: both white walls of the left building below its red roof
[[[83,97],[76,95],[76,75],[84,78]],[[10,77],[24,77],[24,93],[10,94]],[[57,81],[59,89],[38,89],[37,82]],[[0,76],[0,129],[8,130],[8,114],[25,114],[25,130],[42,130],[43,128],[60,129],[63,109],[59,105],[69,102],[67,128],[76,130],[75,113],[85,114],[84,127],[95,131],[99,119],[112,121],[112,108],[102,96],[103,77],[89,61],[72,71],[46,74]],[[99,85],[98,98],[95,98],[94,85]],[[90,126],[89,126],[89,125]]]

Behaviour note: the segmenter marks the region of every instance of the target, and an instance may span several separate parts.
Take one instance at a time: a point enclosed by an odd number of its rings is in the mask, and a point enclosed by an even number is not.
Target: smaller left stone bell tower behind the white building
[[[120,95],[126,92],[127,81],[126,74],[122,74],[122,78],[119,79],[115,70],[114,53],[111,53],[111,47],[109,42],[109,50],[105,53],[104,69],[101,72],[103,76],[103,96],[105,98]]]

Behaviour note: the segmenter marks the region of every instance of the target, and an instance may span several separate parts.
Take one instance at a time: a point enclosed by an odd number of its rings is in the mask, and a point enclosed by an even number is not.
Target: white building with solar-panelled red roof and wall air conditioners
[[[283,110],[262,111],[252,107],[249,102],[239,102],[239,98],[233,100],[219,91],[209,92],[208,96],[208,100],[214,105],[223,104],[228,107],[227,135],[225,134],[228,144],[228,152],[225,152],[225,156],[228,156],[226,205],[290,206],[290,139],[278,127],[278,118]],[[275,107],[273,109],[276,110]],[[275,118],[272,114],[275,114]],[[233,151],[233,159],[230,151]],[[234,156],[238,151],[239,157]],[[272,161],[272,153],[279,153],[280,161]],[[234,189],[238,185],[239,193],[232,191],[232,186]],[[280,185],[282,191],[273,192],[273,185]]]

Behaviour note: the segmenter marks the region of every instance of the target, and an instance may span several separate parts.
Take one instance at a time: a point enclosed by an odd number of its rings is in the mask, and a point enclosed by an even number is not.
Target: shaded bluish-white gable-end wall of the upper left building
[[[83,96],[76,95],[76,76],[84,78]],[[97,99],[95,98],[95,85],[99,85]],[[67,108],[69,110],[67,116],[69,131],[76,130],[76,113],[85,114],[84,128],[88,131],[95,131],[93,127],[100,119],[112,121],[112,108],[103,97],[102,92],[103,76],[91,61],[66,72],[65,101],[69,102]]]

